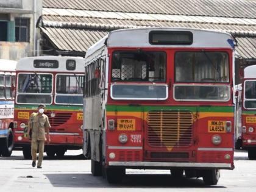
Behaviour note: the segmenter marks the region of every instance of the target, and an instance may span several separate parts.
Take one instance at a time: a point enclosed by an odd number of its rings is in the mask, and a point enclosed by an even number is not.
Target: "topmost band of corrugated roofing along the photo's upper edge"
[[[43,7],[104,12],[256,18],[254,0],[43,0]]]

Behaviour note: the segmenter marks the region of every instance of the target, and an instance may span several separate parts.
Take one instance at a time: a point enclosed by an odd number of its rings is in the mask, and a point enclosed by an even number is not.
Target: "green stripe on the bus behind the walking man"
[[[15,109],[20,110],[35,110],[37,105],[14,105]],[[46,110],[79,110],[81,111],[83,106],[71,106],[71,105],[46,105]]]

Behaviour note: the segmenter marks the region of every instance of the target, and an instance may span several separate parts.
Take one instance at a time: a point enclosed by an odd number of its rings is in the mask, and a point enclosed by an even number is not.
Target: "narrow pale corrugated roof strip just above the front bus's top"
[[[166,21],[166,20],[118,20],[112,18],[91,18],[44,15],[43,24],[48,27],[66,27],[80,29],[115,30],[138,26],[161,26],[161,27],[192,27],[199,29],[215,29],[230,32],[233,35],[256,36],[256,24],[222,24],[189,21]]]

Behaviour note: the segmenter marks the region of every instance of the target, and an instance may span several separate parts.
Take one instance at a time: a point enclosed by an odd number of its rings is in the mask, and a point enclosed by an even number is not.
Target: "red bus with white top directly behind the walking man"
[[[27,57],[16,66],[15,146],[30,158],[30,141],[24,129],[38,104],[46,105],[51,124],[49,157],[62,157],[67,149],[82,148],[84,59],[77,57]]]

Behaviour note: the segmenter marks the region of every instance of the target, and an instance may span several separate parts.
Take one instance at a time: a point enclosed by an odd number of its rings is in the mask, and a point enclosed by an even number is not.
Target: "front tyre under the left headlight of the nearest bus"
[[[126,169],[122,168],[105,168],[105,177],[108,183],[121,183]]]

